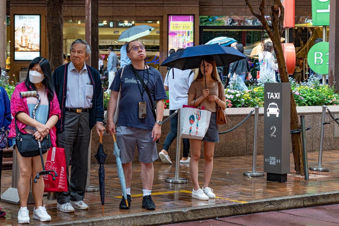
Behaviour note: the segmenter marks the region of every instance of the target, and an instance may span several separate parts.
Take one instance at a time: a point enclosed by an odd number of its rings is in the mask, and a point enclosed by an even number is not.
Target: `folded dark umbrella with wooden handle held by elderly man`
[[[104,212],[104,204],[105,204],[105,168],[104,168],[104,164],[105,164],[107,155],[104,152],[101,134],[100,134],[100,137],[99,137],[98,152],[96,153],[96,155],[94,157],[97,159],[97,161],[100,165],[100,167],[99,167],[99,189],[100,189],[102,212]]]

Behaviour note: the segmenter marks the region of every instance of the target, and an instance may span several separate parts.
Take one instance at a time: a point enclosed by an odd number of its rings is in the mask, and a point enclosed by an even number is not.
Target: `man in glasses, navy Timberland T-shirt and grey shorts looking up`
[[[131,206],[132,161],[137,144],[143,193],[141,206],[155,210],[151,196],[153,162],[158,159],[156,141],[161,135],[164,99],[167,99],[167,95],[160,72],[144,62],[145,46],[134,40],[127,44],[126,49],[132,64],[119,69],[110,87],[111,98],[107,106],[107,130],[117,134],[126,181],[128,207],[122,198],[119,208],[128,209]],[[117,106],[119,91],[120,101]],[[155,103],[156,116],[152,109]],[[116,109],[119,109],[117,129],[113,122]]]

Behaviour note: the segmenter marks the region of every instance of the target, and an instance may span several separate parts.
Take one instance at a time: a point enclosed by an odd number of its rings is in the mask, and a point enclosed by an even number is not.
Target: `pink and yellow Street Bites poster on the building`
[[[194,15],[168,16],[168,50],[194,45]]]

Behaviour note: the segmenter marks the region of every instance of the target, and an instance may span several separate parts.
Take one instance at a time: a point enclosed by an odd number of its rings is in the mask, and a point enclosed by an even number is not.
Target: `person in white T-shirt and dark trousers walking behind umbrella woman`
[[[177,49],[177,52],[183,50],[183,48]],[[180,70],[177,68],[170,69],[165,77],[164,88],[168,91],[169,95],[169,115],[172,115],[176,109],[182,107],[182,105],[187,104],[188,99],[188,88],[194,79],[194,72],[191,69]],[[165,142],[162,146],[162,150],[159,152],[159,157],[163,163],[172,164],[171,159],[168,156],[169,146],[172,144],[174,139],[177,137],[177,125],[178,125],[178,115],[175,115],[170,120],[171,130],[166,136]],[[183,143],[183,157],[180,160],[180,163],[190,163],[190,157],[188,153],[190,152],[190,141],[188,139],[182,139]]]

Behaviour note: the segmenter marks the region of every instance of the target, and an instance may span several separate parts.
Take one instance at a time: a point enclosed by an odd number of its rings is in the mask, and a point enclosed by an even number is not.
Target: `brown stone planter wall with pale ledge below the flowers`
[[[225,131],[237,125],[241,122],[246,115],[251,111],[252,108],[227,108],[226,113],[228,118],[227,125],[219,126],[219,131]],[[329,106],[329,109],[332,113],[339,113],[339,106]],[[298,115],[305,115],[306,126],[318,125],[321,123],[321,106],[311,106],[311,107],[297,107]],[[264,150],[264,108],[259,109],[259,127],[258,127],[258,154],[263,154]],[[169,110],[165,110],[164,119],[168,117]],[[326,121],[331,120],[330,116],[326,114]],[[338,126],[335,122],[332,122],[329,125],[325,125],[325,138],[324,138],[324,150],[336,150],[339,149],[339,138],[334,138],[334,127]],[[162,125],[162,134],[157,144],[158,151],[162,150],[163,142],[166,138],[167,133],[169,132],[169,122]],[[254,114],[251,116],[243,125],[234,131],[220,135],[220,142],[216,144],[214,150],[215,157],[225,157],[225,156],[244,156],[252,155],[253,153],[253,133],[254,133]],[[319,140],[320,140],[320,126],[314,127],[311,130],[306,131],[306,142],[307,142],[307,151],[317,151],[319,150]],[[291,139],[286,142],[291,143]],[[92,153],[91,153],[91,162],[97,163],[94,158],[95,153],[97,152],[99,144],[98,135],[95,132],[95,128],[92,130]],[[115,163],[115,157],[113,156],[113,139],[111,136],[104,136],[103,138],[104,150],[108,154],[106,163]],[[292,146],[291,146],[292,151]],[[169,150],[169,157],[171,160],[175,160],[176,156],[176,140],[172,143]],[[181,148],[182,153],[182,148]],[[181,154],[182,156],[182,154]],[[201,155],[203,156],[203,155]],[[138,161],[138,153],[134,161]],[[160,160],[159,160],[160,161]]]

